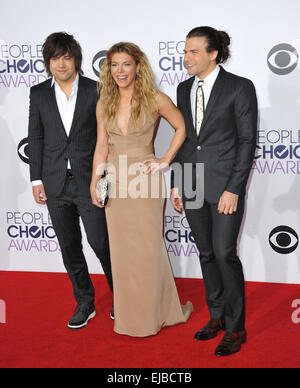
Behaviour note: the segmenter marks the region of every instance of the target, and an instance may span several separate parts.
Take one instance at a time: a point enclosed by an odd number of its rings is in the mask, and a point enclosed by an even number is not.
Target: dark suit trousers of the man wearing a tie
[[[245,329],[245,281],[237,240],[244,198],[232,215],[219,214],[218,205],[206,201],[201,209],[186,209],[185,213],[200,252],[211,318],[224,318],[227,331],[240,332]]]

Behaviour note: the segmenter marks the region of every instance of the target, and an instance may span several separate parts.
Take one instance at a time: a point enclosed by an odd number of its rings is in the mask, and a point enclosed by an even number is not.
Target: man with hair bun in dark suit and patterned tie
[[[192,182],[173,168],[171,201],[185,209],[200,252],[200,262],[211,320],[195,338],[209,340],[226,334],[215,354],[226,356],[246,342],[244,276],[237,255],[245,192],[257,137],[257,99],[248,79],[219,66],[230,56],[226,32],[198,27],[187,36],[185,64],[193,77],[177,90],[178,107],[187,139],[174,163],[191,163]],[[199,164],[204,166],[204,188],[199,187]],[[199,170],[201,171],[201,170]],[[187,186],[192,185],[192,188]],[[198,187],[197,187],[198,186]],[[189,189],[189,190],[188,190]],[[203,191],[193,206],[187,193]]]

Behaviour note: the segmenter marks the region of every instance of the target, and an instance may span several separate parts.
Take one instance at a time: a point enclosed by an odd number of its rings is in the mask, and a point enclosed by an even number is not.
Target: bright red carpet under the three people
[[[73,332],[66,327],[75,304],[65,274],[0,272],[0,301],[6,304],[6,323],[0,323],[0,367],[300,367],[300,323],[292,322],[299,285],[247,283],[248,342],[240,353],[216,358],[222,335],[209,342],[193,339],[209,318],[201,280],[176,281],[182,302],[191,300],[195,306],[187,324],[138,339],[113,332],[105,279],[92,278],[98,314],[87,328]]]

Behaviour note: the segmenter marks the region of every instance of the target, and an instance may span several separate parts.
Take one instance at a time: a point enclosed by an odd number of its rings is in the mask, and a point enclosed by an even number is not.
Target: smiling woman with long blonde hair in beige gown
[[[101,207],[96,185],[106,169],[114,331],[146,337],[186,322],[193,310],[190,302],[180,304],[163,238],[162,169],[185,140],[184,120],[170,98],[156,90],[145,54],[132,43],[108,51],[100,85],[91,196]],[[176,130],[161,159],[153,150],[159,116]]]

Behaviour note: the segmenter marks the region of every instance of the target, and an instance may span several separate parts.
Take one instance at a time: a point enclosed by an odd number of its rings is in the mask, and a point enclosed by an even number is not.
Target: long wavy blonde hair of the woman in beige
[[[111,61],[114,54],[122,52],[129,54],[137,65],[140,64],[131,100],[131,121],[135,126],[138,123],[145,124],[148,119],[154,118],[158,113],[156,102],[158,91],[148,58],[134,43],[117,43],[106,54],[99,77],[102,115],[106,125],[110,125],[118,113],[120,94],[119,87],[111,75]]]

